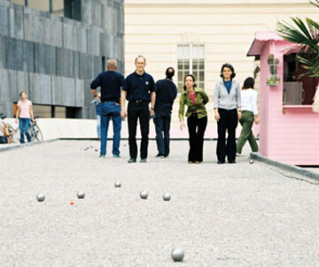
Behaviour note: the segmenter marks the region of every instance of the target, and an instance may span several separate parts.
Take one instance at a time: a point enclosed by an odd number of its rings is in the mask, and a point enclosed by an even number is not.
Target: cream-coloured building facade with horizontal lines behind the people
[[[253,76],[256,63],[246,53],[256,32],[275,31],[278,20],[294,16],[315,19],[318,12],[308,0],[126,0],[126,74],[144,55],[155,80],[173,66],[180,90],[191,72],[212,98],[223,63],[234,65],[241,83]]]

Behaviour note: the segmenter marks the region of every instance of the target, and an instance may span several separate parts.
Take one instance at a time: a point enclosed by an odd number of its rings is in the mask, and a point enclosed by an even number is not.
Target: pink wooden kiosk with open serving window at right
[[[284,164],[319,165],[319,113],[312,109],[319,79],[298,78],[297,44],[257,33],[247,56],[261,60],[260,155]]]

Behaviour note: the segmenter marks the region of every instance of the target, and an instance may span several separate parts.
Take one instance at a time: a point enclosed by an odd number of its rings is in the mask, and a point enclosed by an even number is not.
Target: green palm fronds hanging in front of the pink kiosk
[[[319,0],[311,0],[310,3],[319,8]],[[319,77],[319,22],[310,18],[306,18],[305,22],[300,18],[292,18],[292,21],[294,25],[277,22],[276,30],[285,40],[301,45],[297,59],[305,72],[300,77]],[[313,111],[319,111],[319,85],[315,90]]]

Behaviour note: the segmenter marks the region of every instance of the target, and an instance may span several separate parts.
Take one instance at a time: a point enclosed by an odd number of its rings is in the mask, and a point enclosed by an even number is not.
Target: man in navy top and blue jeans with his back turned
[[[121,88],[124,77],[116,72],[117,61],[109,59],[106,63],[107,71],[98,74],[90,84],[91,92],[97,101],[101,101],[101,149],[100,157],[106,155],[107,132],[110,119],[113,121],[113,157],[120,156],[121,141]],[[101,88],[101,98],[97,88]]]

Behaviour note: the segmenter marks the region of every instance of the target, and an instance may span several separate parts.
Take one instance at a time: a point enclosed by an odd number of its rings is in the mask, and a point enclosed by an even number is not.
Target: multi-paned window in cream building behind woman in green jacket
[[[204,44],[180,44],[177,46],[178,91],[183,91],[183,78],[193,74],[197,87],[205,89],[205,46]]]

